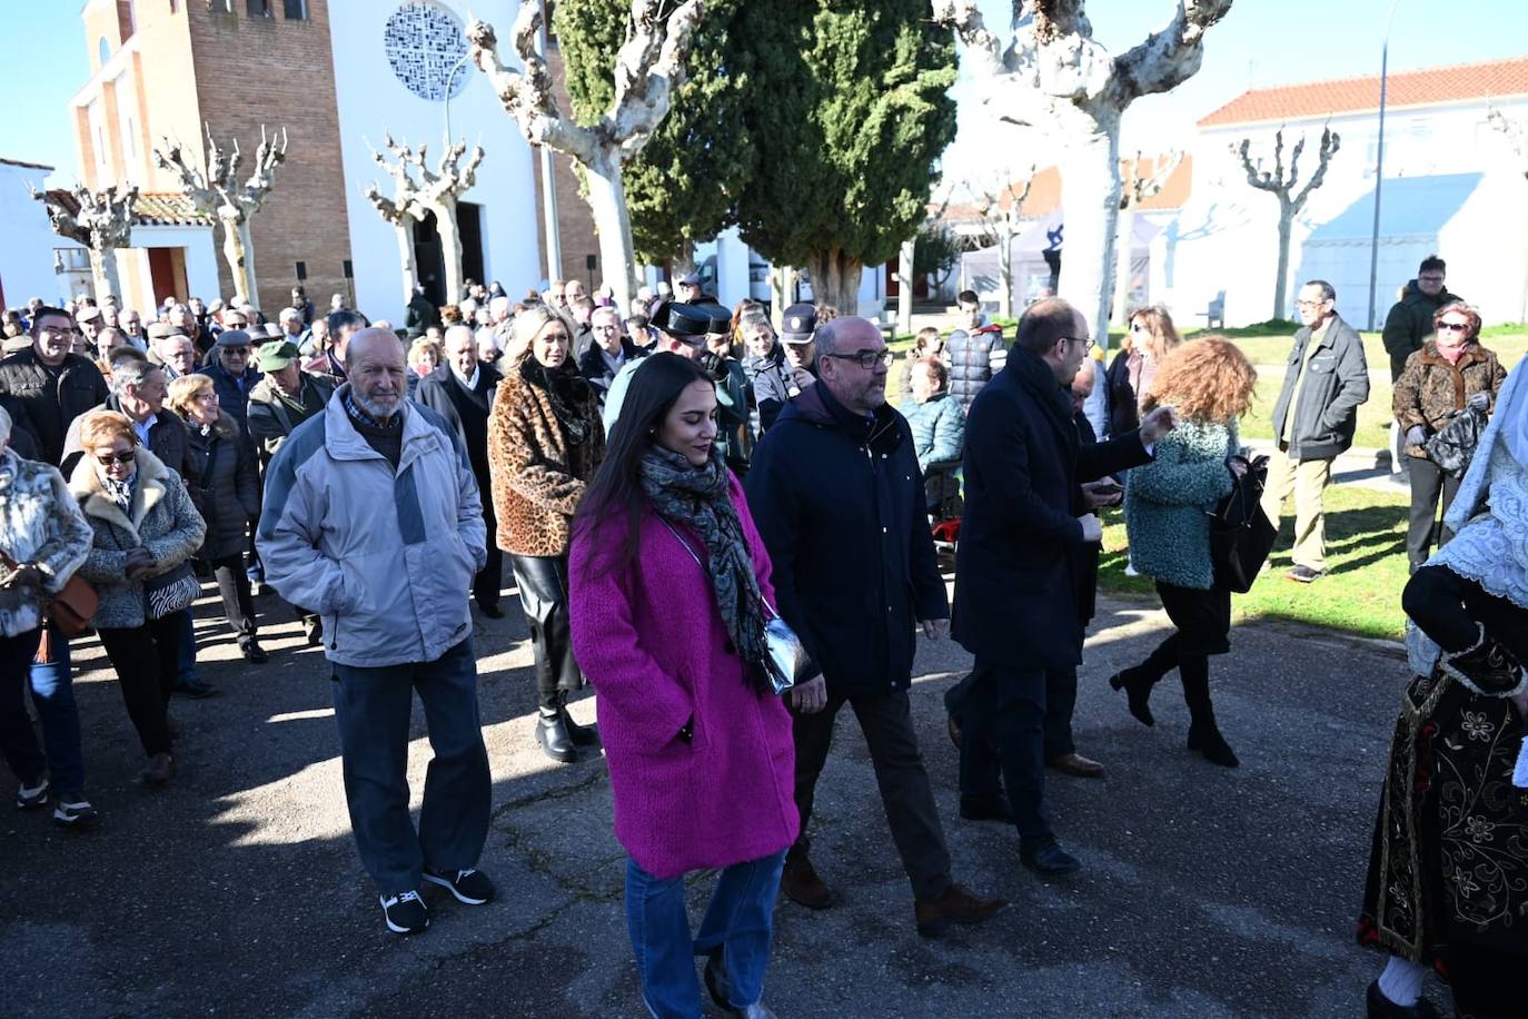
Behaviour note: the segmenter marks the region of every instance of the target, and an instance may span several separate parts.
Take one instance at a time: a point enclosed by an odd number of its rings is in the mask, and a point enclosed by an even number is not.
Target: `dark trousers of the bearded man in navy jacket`
[[[935,898],[950,885],[950,854],[944,828],[934,804],[934,788],[923,767],[918,736],[912,729],[912,707],[906,691],[856,694],[845,697],[828,689],[828,704],[814,715],[793,712],[796,738],[796,810],[801,813],[801,845],[807,843],[807,822],[817,793],[817,776],[833,746],[833,723],[839,709],[854,709],[865,746],[869,749],[880,802],[891,825],[891,839],[902,856],[902,868],[917,898]]]

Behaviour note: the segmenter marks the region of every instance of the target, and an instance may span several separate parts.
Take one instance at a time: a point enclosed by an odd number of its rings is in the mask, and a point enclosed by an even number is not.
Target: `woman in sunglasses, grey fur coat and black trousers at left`
[[[153,619],[145,584],[171,576],[196,555],[206,524],[180,475],[138,442],[125,414],[86,414],[79,443],[84,455],[69,478],[69,490],[95,530],[79,576],[95,585],[101,599],[95,628],[148,755],[144,781],[163,785],[176,773],[165,709],[176,683],[186,610]]]

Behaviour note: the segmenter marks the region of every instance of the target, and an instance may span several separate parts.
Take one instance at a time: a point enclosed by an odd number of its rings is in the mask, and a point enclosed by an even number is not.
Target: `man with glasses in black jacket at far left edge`
[[[69,426],[110,396],[101,370],[69,353],[73,341],[69,312],[43,307],[32,315],[32,347],[0,361],[0,394],[11,397],[6,409],[55,467],[63,461]]]

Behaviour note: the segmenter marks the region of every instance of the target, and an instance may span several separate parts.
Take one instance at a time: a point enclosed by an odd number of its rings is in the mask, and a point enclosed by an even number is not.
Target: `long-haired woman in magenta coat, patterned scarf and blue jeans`
[[[701,1014],[706,987],[766,1017],[773,906],[799,817],[785,706],[766,672],[769,556],[715,448],[717,396],[689,359],[631,377],[573,524],[573,652],[594,684],[642,998]],[[691,937],[685,874],[721,868]]]

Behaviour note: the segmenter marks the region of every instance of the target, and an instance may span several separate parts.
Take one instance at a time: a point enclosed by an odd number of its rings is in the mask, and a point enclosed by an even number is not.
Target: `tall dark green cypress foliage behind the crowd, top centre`
[[[579,116],[613,93],[630,0],[562,0],[553,26]],[[860,269],[923,222],[955,137],[955,46],[926,0],[712,0],[689,81],[626,167],[631,229],[665,263],[730,225],[817,301],[853,312]]]

